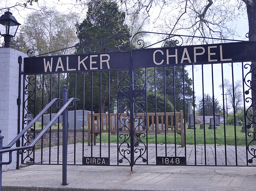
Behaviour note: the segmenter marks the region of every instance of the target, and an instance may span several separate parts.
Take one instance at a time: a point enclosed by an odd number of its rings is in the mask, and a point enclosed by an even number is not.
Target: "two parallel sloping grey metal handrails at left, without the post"
[[[32,148],[36,142],[44,135],[44,133],[50,128],[50,126],[52,126],[52,124],[54,123],[54,121],[56,121],[58,119],[58,117],[63,113],[63,111],[68,107],[68,105],[70,105],[71,102],[73,101],[77,101],[79,99],[77,98],[70,98],[65,105],[63,105],[63,107],[58,111],[58,113],[52,118],[52,120],[44,127],[44,129],[36,136],[36,138],[34,140],[32,140],[32,142],[28,145],[28,146],[19,146],[19,147],[15,147],[15,148],[10,148],[11,146],[14,145],[14,143],[16,143],[17,140],[19,140],[19,138],[26,132],[28,131],[28,129],[37,121],[37,119],[39,119],[39,117],[56,101],[56,100],[61,100],[61,99],[53,99],[30,123],[28,126],[26,126],[26,128],[24,128],[7,146],[3,147],[2,150],[0,150],[0,153],[8,153],[8,152],[13,152],[13,151],[18,151],[18,150],[24,150],[24,149],[29,149]]]

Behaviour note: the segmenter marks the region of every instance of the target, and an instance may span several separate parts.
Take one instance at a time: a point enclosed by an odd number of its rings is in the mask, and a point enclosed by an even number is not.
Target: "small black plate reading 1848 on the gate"
[[[186,166],[186,157],[157,156],[156,165]]]

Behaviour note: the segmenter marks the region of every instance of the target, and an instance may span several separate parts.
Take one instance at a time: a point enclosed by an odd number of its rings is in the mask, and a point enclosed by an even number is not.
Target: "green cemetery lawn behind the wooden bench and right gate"
[[[224,136],[224,125],[218,126],[217,129],[215,129],[215,142],[214,142],[214,129],[208,129],[208,126],[206,126],[205,129],[205,144],[206,145],[224,145],[225,144],[225,138],[226,138],[226,144],[227,145],[235,145],[235,129],[234,126],[226,125],[225,127],[225,136]],[[241,126],[236,126],[236,143],[237,145],[246,145],[245,142],[245,133],[241,133]],[[194,140],[195,137],[195,140]],[[97,136],[96,142],[99,143],[100,136]],[[102,133],[101,136],[102,143],[108,143],[108,134]],[[248,141],[250,141],[252,138],[248,137]],[[120,139],[119,142],[121,143],[123,139]],[[142,137],[141,140],[143,140],[144,143],[146,143],[146,137]],[[164,134],[157,134],[156,135],[147,135],[147,142],[148,144],[155,144],[157,140],[157,144],[165,144],[165,135]],[[110,143],[117,143],[117,135],[110,134]],[[166,143],[167,144],[174,144],[175,143],[175,135],[174,133],[169,133],[166,135]],[[176,143],[181,144],[181,136],[179,134],[176,134]],[[197,129],[186,129],[186,144],[187,145],[203,145],[204,144],[204,130],[199,129],[199,126],[197,126]]]

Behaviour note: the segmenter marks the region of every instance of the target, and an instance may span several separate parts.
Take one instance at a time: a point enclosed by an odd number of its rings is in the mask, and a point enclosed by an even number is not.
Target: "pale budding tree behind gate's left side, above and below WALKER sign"
[[[53,56],[73,53],[75,49],[66,48],[74,46],[77,41],[74,25],[77,19],[75,13],[63,14],[54,8],[44,9],[41,13],[32,12],[21,25],[21,33],[12,41],[12,45],[25,53],[28,49],[32,49],[34,54],[48,53]],[[58,49],[63,50],[52,52]],[[64,79],[64,74],[36,75],[36,113],[54,97],[59,97],[59,91],[66,84]]]

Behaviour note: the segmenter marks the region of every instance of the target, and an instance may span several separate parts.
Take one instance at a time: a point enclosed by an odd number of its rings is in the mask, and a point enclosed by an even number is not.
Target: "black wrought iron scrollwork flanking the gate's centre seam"
[[[131,162],[134,164],[138,159],[141,159],[142,162],[147,162],[147,159],[144,157],[144,154],[147,151],[147,146],[144,141],[146,137],[146,82],[145,82],[145,71],[143,69],[133,70],[133,86],[130,85],[130,73],[129,71],[121,71],[118,74],[118,121],[120,127],[118,128],[119,139],[122,141],[118,147],[118,151],[122,158],[118,160],[119,163],[123,161],[128,161],[131,165]],[[131,89],[133,87],[133,89]],[[131,99],[132,98],[132,99]],[[133,99],[134,98],[134,99]],[[129,103],[133,102],[134,110],[133,113],[130,113]],[[126,113],[126,115],[123,115]],[[138,116],[138,113],[143,113],[143,116]],[[131,115],[134,115],[133,121],[131,121]],[[131,130],[129,124],[133,123],[134,128]],[[129,134],[122,133],[123,130],[128,130]],[[140,132],[137,132],[138,129]],[[141,132],[141,130],[145,132]],[[134,142],[131,142],[131,136],[134,136]],[[131,147],[133,144],[133,147]],[[131,150],[133,148],[134,150]],[[130,161],[128,156],[131,152],[136,154],[134,161]]]

